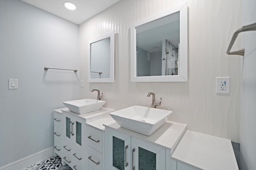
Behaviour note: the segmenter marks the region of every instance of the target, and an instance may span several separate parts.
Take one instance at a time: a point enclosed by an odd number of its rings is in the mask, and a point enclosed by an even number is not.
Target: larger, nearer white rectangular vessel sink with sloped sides
[[[132,106],[109,114],[121,127],[150,136],[166,122],[171,113],[169,110]]]

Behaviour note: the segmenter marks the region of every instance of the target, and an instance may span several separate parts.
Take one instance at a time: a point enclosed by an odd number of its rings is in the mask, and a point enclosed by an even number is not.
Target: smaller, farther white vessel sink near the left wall
[[[73,100],[68,102],[63,102],[63,104],[68,107],[68,109],[72,112],[78,114],[89,113],[92,111],[99,110],[106,102],[102,100],[95,99],[81,99],[81,100]]]

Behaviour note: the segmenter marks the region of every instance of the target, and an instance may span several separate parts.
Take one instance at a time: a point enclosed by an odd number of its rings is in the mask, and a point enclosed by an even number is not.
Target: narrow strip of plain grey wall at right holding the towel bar
[[[242,23],[256,23],[256,1],[242,1]],[[245,48],[241,84],[241,169],[256,168],[256,31],[240,33]],[[242,48],[241,47],[241,48]]]

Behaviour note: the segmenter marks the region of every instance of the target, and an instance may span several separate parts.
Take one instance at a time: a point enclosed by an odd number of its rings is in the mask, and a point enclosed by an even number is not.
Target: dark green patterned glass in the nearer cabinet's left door
[[[124,170],[124,141],[113,136],[113,166]]]

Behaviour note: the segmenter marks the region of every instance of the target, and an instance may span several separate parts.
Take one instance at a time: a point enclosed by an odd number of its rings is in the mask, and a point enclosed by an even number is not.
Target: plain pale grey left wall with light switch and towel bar
[[[0,167],[53,147],[52,109],[79,97],[78,29],[20,0],[0,0]],[[9,78],[18,89],[8,89]]]

